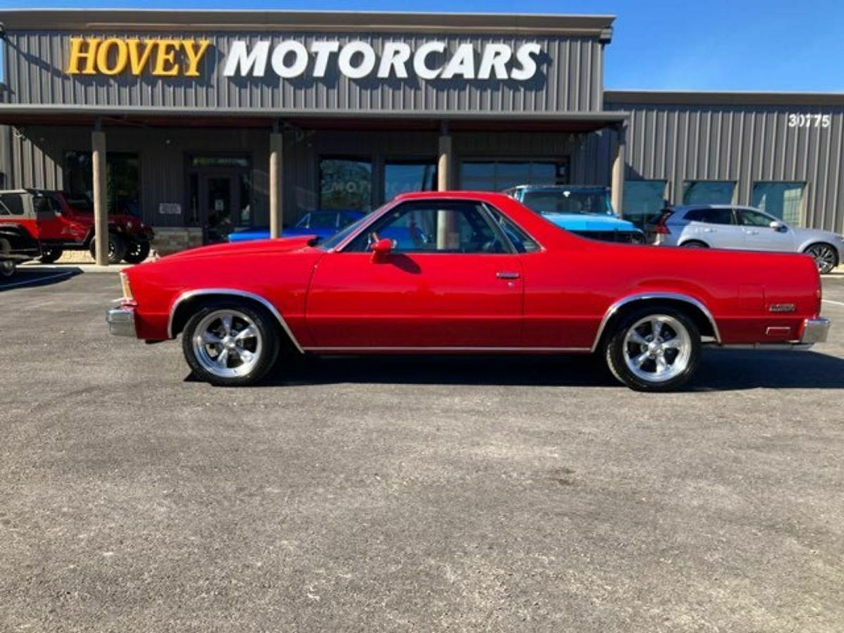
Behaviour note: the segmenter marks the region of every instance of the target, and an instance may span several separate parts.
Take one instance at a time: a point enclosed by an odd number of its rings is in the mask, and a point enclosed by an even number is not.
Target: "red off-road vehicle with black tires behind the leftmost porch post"
[[[0,191],[0,227],[35,242],[41,262],[52,263],[64,251],[94,255],[94,204],[89,197],[41,189]],[[140,263],[149,255],[154,234],[129,214],[109,214],[108,261]]]

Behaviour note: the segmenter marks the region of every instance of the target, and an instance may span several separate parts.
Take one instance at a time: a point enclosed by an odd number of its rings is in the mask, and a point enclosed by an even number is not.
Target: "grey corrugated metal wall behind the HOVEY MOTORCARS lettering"
[[[354,33],[314,35],[311,33],[207,33],[180,34],[168,31],[167,37],[206,38],[212,46],[203,57],[200,77],[157,78],[70,76],[68,68],[70,37],[138,36],[160,37],[153,33],[86,31],[10,31],[7,34],[8,102],[15,104],[55,104],[73,106],[145,106],[159,108],[248,108],[257,112],[299,111],[484,111],[553,112],[600,111],[603,100],[603,44],[597,37],[548,37],[512,35],[419,35],[414,33]],[[484,44],[502,42],[515,47],[538,42],[544,53],[538,56],[538,73],[527,81],[467,81],[392,78],[353,80],[339,76],[337,55],[328,65],[325,78],[281,80],[267,69],[264,78],[225,78],[223,60],[234,40],[256,42],[271,40],[273,45],[285,39],[311,41],[337,39],[360,40],[381,53],[386,41],[405,41],[415,49],[425,41],[446,41],[449,51],[458,44],[471,42],[476,53]],[[431,55],[431,66],[437,56]],[[311,62],[312,64],[312,62]]]

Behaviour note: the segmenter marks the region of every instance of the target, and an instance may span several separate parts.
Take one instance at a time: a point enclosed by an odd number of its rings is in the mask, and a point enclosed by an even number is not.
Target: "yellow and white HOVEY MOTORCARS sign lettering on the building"
[[[199,77],[208,40],[137,37],[72,37],[67,73],[108,75],[130,73],[155,77]],[[369,42],[354,40],[235,40],[222,61],[225,77],[324,78],[333,65],[344,77],[527,81],[537,72],[536,57],[542,47],[535,42],[510,46],[490,42],[476,48],[459,44],[449,51],[445,41],[425,41],[412,46],[386,41],[381,51]]]

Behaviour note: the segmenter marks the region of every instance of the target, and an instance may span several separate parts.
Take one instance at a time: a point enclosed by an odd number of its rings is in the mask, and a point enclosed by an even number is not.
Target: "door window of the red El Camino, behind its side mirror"
[[[403,253],[503,253],[491,219],[478,203],[419,201],[404,203],[358,235],[344,252],[366,252],[376,240],[390,239]]]

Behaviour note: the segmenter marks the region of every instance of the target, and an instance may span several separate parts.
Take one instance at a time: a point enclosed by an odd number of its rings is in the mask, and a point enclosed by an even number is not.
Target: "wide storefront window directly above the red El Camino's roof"
[[[464,160],[460,165],[463,189],[500,192],[517,185],[564,185],[569,161]]]

